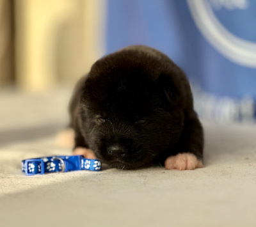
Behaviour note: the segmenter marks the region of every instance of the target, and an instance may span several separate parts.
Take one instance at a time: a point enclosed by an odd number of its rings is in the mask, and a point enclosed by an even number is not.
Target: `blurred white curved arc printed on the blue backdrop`
[[[187,3],[196,26],[212,46],[231,61],[256,68],[256,43],[230,33],[214,15],[208,1],[187,0]]]

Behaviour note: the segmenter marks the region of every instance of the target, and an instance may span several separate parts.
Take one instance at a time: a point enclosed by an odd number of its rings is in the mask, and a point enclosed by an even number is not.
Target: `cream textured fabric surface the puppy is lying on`
[[[255,226],[255,126],[204,122],[195,171],[24,175],[22,159],[70,155],[55,143],[69,95],[0,95],[1,226]]]

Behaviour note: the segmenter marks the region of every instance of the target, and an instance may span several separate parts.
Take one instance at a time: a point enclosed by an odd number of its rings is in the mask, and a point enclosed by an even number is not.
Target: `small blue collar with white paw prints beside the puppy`
[[[21,164],[22,172],[26,173],[27,176],[76,170],[101,170],[100,160],[84,159],[84,157],[81,155],[56,155],[50,157],[40,157],[36,159],[25,159],[22,160]]]

